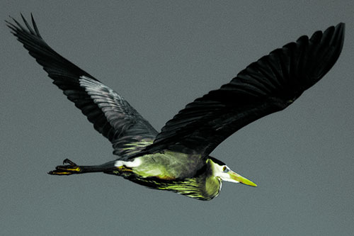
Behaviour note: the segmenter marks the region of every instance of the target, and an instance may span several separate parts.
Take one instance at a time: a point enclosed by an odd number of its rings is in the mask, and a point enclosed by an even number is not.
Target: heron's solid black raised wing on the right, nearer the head
[[[261,57],[220,89],[189,103],[144,152],[173,150],[204,157],[236,130],[289,106],[329,72],[344,40],[344,23],[300,37]]]

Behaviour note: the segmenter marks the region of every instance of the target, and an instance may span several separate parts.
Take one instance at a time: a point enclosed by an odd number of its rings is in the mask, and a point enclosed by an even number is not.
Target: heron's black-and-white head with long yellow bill
[[[244,176],[241,176],[236,172],[233,172],[229,167],[227,167],[226,164],[224,164],[224,162],[221,162],[218,159],[215,159],[214,157],[209,157],[207,159],[207,164],[210,167],[212,175],[223,181],[241,183],[253,187],[257,186],[251,180],[246,179]]]

